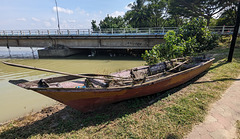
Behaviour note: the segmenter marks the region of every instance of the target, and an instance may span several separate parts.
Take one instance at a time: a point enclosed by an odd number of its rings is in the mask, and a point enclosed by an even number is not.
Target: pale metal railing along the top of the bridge
[[[169,30],[176,30],[177,27],[155,27],[155,28],[106,28],[99,30],[92,29],[49,29],[49,30],[0,30],[0,36],[94,36],[94,35],[164,35]],[[210,26],[209,29],[219,34],[232,34],[233,26]],[[240,34],[240,31],[239,31]]]

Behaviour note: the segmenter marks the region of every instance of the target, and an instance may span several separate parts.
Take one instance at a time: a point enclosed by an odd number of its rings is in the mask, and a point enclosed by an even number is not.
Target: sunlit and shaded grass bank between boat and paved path
[[[177,88],[87,114],[46,108],[0,126],[0,138],[183,138],[239,76],[239,46],[227,63],[229,48],[221,45],[208,52],[216,58],[208,72]]]

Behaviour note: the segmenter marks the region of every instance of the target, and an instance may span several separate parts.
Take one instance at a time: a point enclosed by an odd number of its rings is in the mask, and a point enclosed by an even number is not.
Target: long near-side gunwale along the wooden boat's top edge
[[[189,69],[186,69],[186,70],[183,70],[183,71],[180,71],[180,72],[177,72],[177,73],[173,73],[173,74],[170,74],[170,75],[167,75],[167,76],[164,76],[164,77],[159,77],[157,79],[153,79],[153,80],[150,80],[149,82],[145,82],[145,83],[142,83],[142,84],[136,84],[136,85],[126,85],[126,86],[119,86],[119,87],[108,87],[108,88],[57,88],[57,87],[51,87],[51,88],[26,88],[26,89],[29,89],[29,90],[33,90],[33,91],[44,91],[44,90],[47,90],[47,91],[54,91],[54,90],[58,90],[58,91],[61,91],[61,90],[74,90],[74,92],[92,92],[92,91],[117,91],[117,90],[123,90],[123,89],[133,89],[133,88],[138,88],[138,87],[144,87],[144,86],[148,86],[148,85],[151,85],[151,84],[155,84],[155,83],[158,83],[160,81],[164,81],[164,80],[167,80],[169,78],[172,78],[174,76],[177,76],[177,75],[180,75],[180,74],[183,74],[183,73],[187,73],[187,72],[190,72],[192,70],[195,70],[199,67],[202,67],[204,65],[207,65],[211,62],[213,62],[215,60],[215,58],[209,58],[208,61],[204,62],[204,63],[201,63],[197,66],[194,66],[192,68],[189,68]],[[158,73],[159,75],[161,73]],[[154,75],[154,76],[157,76]],[[150,77],[150,76],[149,76]],[[193,77],[194,78],[194,77]],[[34,81],[32,81],[34,82]]]

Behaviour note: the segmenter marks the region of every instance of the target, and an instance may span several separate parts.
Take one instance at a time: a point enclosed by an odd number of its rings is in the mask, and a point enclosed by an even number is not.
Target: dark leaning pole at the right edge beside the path
[[[230,50],[229,50],[228,62],[232,62],[234,47],[235,47],[235,44],[236,44],[237,35],[238,35],[238,31],[239,31],[239,23],[240,23],[240,0],[238,0],[237,20],[236,20],[236,24],[235,24],[235,27],[234,27],[234,32],[233,32],[233,35],[232,35],[232,42],[231,42],[231,47],[230,47]]]

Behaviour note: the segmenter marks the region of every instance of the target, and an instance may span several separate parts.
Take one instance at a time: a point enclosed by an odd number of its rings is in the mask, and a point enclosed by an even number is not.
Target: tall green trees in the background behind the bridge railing
[[[122,17],[105,17],[100,28],[178,27],[194,17],[207,20],[207,25],[233,25],[236,0],[135,0]],[[221,15],[217,21],[213,16]],[[212,23],[214,21],[214,23]],[[92,26],[95,29],[95,27]]]

